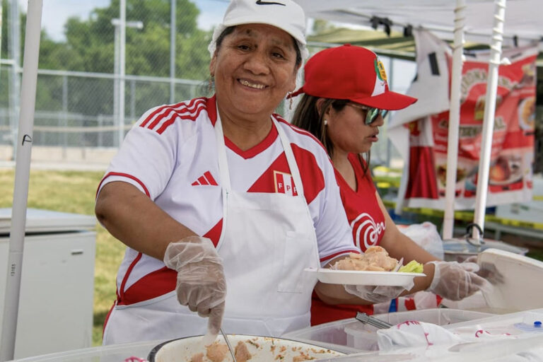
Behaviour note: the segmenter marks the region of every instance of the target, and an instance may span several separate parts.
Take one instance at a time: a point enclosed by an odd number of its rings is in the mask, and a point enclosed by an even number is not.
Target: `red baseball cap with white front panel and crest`
[[[346,44],[321,50],[304,66],[305,83],[292,93],[315,97],[347,99],[381,110],[401,110],[416,98],[389,91],[385,67],[377,54]]]

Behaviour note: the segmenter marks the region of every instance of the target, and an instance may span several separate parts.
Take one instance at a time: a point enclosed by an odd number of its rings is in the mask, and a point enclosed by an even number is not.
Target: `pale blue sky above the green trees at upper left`
[[[44,0],[42,9],[42,28],[54,40],[62,40],[66,19],[71,16],[88,18],[94,8],[105,7],[111,0]],[[228,0],[192,0],[201,13],[198,18],[200,28],[209,30],[222,20]],[[26,12],[28,1],[19,0],[21,8]]]

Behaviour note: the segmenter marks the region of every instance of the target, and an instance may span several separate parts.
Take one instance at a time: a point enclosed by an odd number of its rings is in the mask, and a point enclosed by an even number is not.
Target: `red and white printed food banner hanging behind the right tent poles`
[[[392,117],[388,136],[405,158],[397,212],[444,209],[452,50],[425,30],[415,32],[417,76],[408,95],[419,101]],[[455,209],[474,209],[481,154],[489,52],[465,54],[462,66]],[[499,68],[487,206],[532,197],[537,47],[503,49]]]

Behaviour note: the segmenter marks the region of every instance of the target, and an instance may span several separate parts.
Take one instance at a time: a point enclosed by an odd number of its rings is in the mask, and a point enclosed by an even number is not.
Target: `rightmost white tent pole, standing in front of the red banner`
[[[498,69],[501,64],[501,43],[503,42],[503,22],[506,18],[506,0],[494,1],[494,26],[490,45],[489,73],[486,81],[484,99],[483,131],[481,139],[481,158],[477,175],[477,194],[475,199],[474,223],[484,230],[486,196],[489,186],[489,168],[494,135],[494,115],[496,112],[496,93],[498,90]],[[479,238],[479,230],[473,228],[473,238]]]

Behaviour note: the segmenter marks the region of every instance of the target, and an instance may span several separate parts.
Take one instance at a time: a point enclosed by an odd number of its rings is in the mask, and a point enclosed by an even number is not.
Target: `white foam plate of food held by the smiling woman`
[[[415,276],[424,273],[402,273],[399,271],[359,271],[306,268],[317,273],[317,279],[328,284],[351,284],[361,286],[407,286]]]

